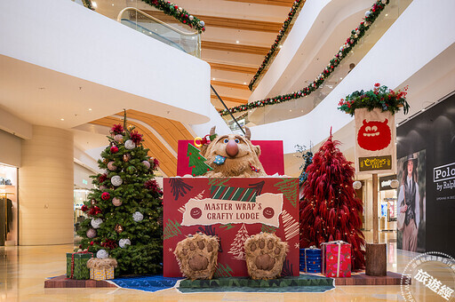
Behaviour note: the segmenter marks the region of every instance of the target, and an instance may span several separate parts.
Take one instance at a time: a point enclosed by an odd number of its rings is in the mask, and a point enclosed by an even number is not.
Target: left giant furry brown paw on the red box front
[[[217,267],[220,243],[216,237],[195,234],[177,243],[174,255],[181,274],[191,280],[212,279]]]

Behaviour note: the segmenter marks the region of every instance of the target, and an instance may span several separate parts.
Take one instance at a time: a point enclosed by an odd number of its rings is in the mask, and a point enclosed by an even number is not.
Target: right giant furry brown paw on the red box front
[[[288,243],[275,234],[260,233],[245,241],[246,267],[251,279],[275,279],[281,275]]]

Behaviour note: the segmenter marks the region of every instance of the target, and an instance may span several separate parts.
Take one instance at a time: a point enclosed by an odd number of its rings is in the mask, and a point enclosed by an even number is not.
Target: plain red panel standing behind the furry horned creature
[[[193,140],[179,140],[177,155],[177,175],[191,175],[188,167],[188,143],[194,145]],[[267,175],[284,175],[283,140],[251,140],[253,145],[260,146],[259,161]]]

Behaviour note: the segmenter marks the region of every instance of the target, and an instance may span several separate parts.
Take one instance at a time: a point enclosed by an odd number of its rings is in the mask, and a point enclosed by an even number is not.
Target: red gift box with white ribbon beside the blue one
[[[323,274],[326,277],[351,276],[351,244],[342,241],[324,242]]]

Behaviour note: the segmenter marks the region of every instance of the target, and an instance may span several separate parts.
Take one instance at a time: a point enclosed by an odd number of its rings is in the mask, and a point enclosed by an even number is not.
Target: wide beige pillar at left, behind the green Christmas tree
[[[73,242],[74,142],[71,131],[33,126],[22,142],[20,245]]]

